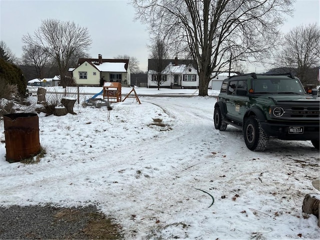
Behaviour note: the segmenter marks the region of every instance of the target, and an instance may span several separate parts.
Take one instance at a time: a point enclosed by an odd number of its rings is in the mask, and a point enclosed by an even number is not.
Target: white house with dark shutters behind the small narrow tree
[[[195,62],[190,59],[163,59],[161,60],[163,69],[157,71],[159,68],[159,60],[148,59],[148,73],[147,73],[147,87],[163,88],[198,88],[199,76],[197,74]]]

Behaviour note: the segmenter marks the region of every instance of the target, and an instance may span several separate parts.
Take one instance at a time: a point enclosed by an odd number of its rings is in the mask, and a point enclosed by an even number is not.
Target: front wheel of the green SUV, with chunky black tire
[[[245,145],[252,151],[263,151],[269,141],[257,117],[249,116],[243,125]]]

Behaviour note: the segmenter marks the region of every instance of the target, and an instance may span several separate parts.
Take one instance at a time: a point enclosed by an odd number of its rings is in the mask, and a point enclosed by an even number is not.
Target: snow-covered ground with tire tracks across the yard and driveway
[[[239,129],[214,129],[216,91],[135,91],[141,104],[126,98],[108,111],[83,107],[81,95],[75,115],[39,113],[46,154],[36,164],[5,160],[2,118],[0,205],[94,204],[122,226],[123,239],[319,239],[316,216],[301,210],[306,194],[320,193],[312,185],[319,151],[309,141],[270,139],[264,152],[250,151]],[[141,96],[167,93],[193,96]],[[28,100],[29,112],[41,106]]]

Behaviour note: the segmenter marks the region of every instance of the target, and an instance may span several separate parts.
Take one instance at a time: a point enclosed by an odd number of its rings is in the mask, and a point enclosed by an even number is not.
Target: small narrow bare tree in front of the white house
[[[166,80],[165,75],[162,75],[162,70],[165,68],[165,59],[167,59],[167,45],[163,40],[156,39],[154,45],[149,46],[150,58],[154,60],[154,74],[151,74],[151,81],[155,82],[158,90],[160,85]]]

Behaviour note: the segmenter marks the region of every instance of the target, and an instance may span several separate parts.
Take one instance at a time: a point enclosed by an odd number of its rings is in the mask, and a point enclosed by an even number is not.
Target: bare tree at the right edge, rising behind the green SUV
[[[295,71],[303,84],[312,67],[320,65],[320,28],[317,23],[299,25],[284,35],[282,49],[276,57],[276,67]]]

